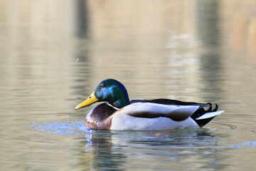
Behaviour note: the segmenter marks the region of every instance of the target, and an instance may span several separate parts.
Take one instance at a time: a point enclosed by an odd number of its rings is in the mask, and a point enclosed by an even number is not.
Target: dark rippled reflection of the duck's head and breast
[[[86,169],[90,166],[96,170],[124,170],[122,165],[127,162],[127,148],[113,145],[111,138],[111,133],[86,135],[86,141],[80,142],[81,147],[85,147],[85,153],[80,154],[82,157],[80,167],[84,166]],[[83,158],[84,156],[93,157],[90,159],[90,164]]]

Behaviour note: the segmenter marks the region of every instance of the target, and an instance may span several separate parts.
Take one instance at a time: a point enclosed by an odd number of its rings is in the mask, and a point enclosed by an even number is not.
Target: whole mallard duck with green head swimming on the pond
[[[216,115],[211,103],[193,103],[170,99],[129,100],[127,89],[114,79],[101,81],[75,110],[96,105],[85,119],[87,128],[105,130],[171,130],[202,128]],[[208,108],[207,110],[205,108]]]

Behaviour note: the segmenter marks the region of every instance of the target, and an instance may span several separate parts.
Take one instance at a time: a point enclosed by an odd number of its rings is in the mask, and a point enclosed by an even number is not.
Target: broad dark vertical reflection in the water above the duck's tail
[[[220,73],[223,59],[219,31],[219,1],[196,1],[197,35],[201,40],[203,51],[200,53],[201,86],[206,101],[218,102],[222,84]],[[210,92],[210,93],[209,93]],[[210,98],[209,98],[210,97]]]

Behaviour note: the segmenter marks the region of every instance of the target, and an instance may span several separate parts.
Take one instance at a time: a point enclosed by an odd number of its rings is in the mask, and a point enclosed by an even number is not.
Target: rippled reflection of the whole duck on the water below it
[[[80,167],[96,170],[178,170],[225,168],[225,149],[208,130],[168,132],[93,131],[80,140]],[[203,162],[202,162],[203,160]],[[161,165],[159,165],[161,163]],[[170,167],[171,166],[171,167]]]

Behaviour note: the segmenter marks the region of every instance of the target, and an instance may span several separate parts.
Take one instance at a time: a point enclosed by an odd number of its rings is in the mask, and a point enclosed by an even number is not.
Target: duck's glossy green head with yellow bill
[[[75,107],[75,110],[85,108],[96,102],[109,102],[116,108],[123,108],[129,105],[129,96],[122,83],[114,79],[101,81],[92,94],[82,103]]]

